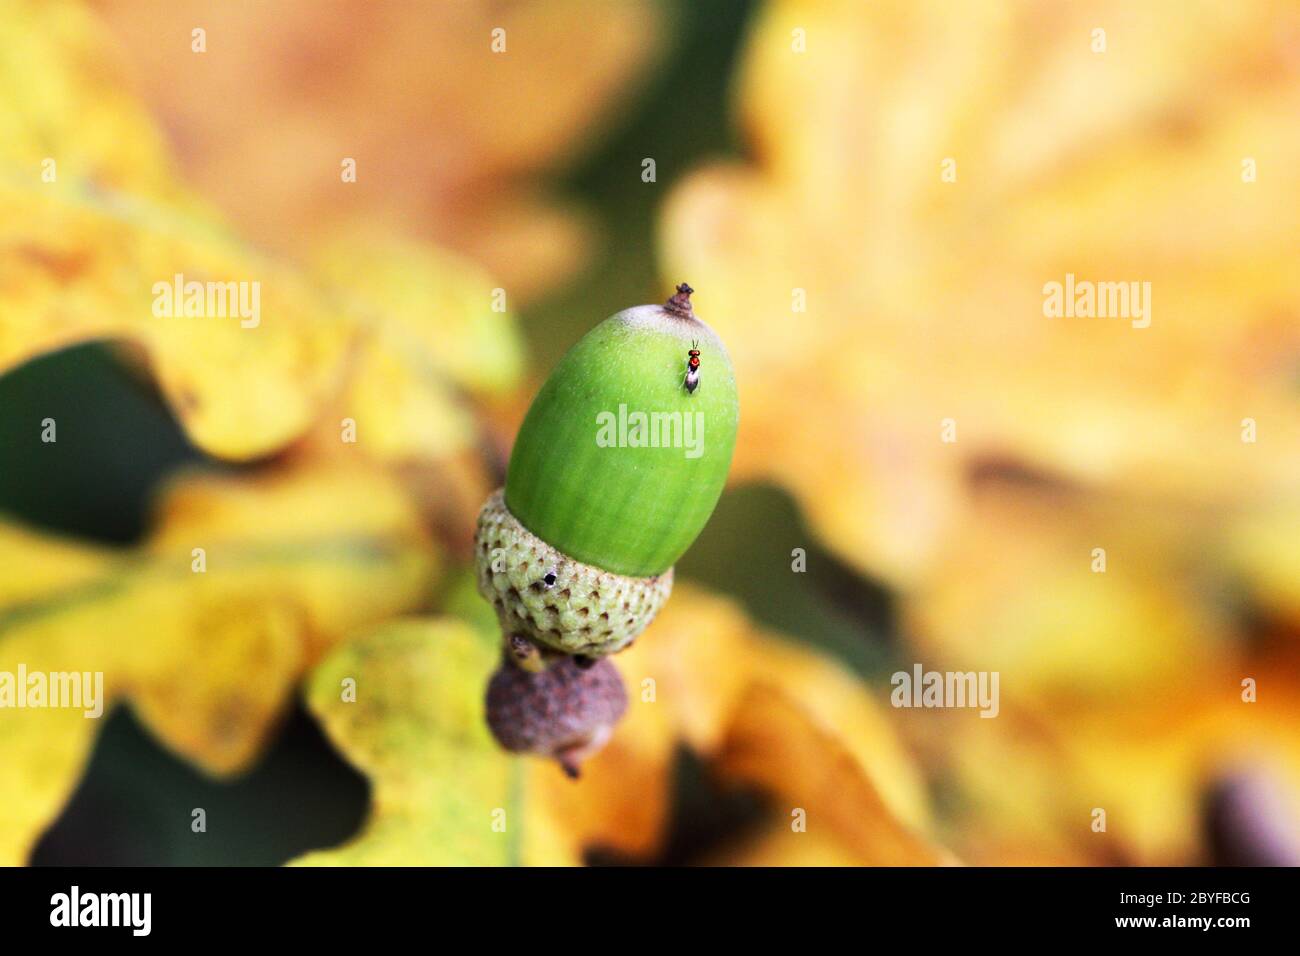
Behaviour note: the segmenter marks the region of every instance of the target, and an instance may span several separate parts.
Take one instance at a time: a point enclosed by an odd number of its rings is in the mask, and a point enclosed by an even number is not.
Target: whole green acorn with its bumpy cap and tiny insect
[[[693,291],[682,284],[662,306],[606,319],[533,399],[474,540],[503,666],[540,674],[628,646],[712,515],[738,403],[731,356]]]

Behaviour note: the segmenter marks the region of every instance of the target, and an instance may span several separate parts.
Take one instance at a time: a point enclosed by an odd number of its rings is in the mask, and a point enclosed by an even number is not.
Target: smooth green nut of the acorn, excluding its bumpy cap
[[[624,310],[582,337],[533,399],[515,441],[506,506],[568,558],[663,575],[708,522],[736,446],[736,376],[690,304]],[[685,388],[690,349],[699,384]]]

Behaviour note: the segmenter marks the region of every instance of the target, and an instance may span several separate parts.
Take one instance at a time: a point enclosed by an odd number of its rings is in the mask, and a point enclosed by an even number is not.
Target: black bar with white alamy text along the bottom
[[[471,940],[486,934],[484,943],[502,933],[581,939],[597,921],[651,935],[805,921],[852,926],[863,942],[918,930],[933,942],[968,936],[972,926],[985,942],[1080,934],[1230,942],[1286,929],[1294,891],[1295,870],[1286,869],[29,869],[0,871],[0,926],[8,942],[77,934],[127,944],[282,935],[373,946],[377,927],[420,938],[436,926],[432,944],[450,943],[450,926]]]

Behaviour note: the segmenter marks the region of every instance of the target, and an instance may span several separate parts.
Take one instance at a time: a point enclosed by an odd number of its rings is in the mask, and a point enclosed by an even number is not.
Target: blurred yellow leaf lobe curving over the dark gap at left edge
[[[303,277],[211,222],[0,173],[0,371],[77,342],[131,342],[194,442],[248,459],[308,428],[351,334]]]

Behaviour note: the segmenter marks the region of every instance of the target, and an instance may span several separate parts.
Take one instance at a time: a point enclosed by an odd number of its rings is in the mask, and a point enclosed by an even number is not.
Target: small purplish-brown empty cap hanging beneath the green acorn
[[[628,709],[608,661],[564,657],[532,674],[503,661],[488,683],[488,726],[507,750],[560,762],[569,777],[601,749]]]

